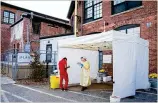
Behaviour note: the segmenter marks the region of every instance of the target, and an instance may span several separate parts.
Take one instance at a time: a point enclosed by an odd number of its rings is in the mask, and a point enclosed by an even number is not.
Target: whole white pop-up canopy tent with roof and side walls
[[[70,84],[79,83],[81,56],[91,64],[91,78],[98,72],[98,50],[113,51],[113,95],[120,98],[135,95],[136,89],[149,87],[148,41],[133,34],[107,31],[58,41],[58,60],[68,58]]]

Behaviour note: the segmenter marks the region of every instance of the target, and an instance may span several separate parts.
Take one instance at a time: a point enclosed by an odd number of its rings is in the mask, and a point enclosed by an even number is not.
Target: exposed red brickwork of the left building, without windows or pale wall
[[[24,13],[21,10],[17,10],[14,8],[6,7],[6,6],[1,6],[1,18],[3,19],[3,11],[8,10],[13,13],[15,13],[15,21],[18,21],[21,17],[21,14]],[[27,41],[27,25],[30,24],[30,20],[28,18],[23,19],[23,46],[26,44]],[[17,43],[20,43],[20,40],[14,40],[13,42],[10,42],[11,39],[11,29],[9,24],[3,24],[1,22],[1,52],[5,52],[8,49],[11,49],[14,47],[17,48]],[[52,24],[50,24],[52,25]],[[58,28],[50,27],[48,26],[48,23],[46,22],[41,22],[41,30],[40,30],[40,35],[37,34],[32,34],[33,32],[31,31],[30,34],[30,41],[31,42],[31,50],[36,51],[39,48],[39,37],[40,36],[50,36],[50,35],[58,35],[58,34],[64,34],[64,33],[70,33],[70,28],[67,29],[67,27],[57,25]],[[20,48],[20,51],[23,49],[23,47]]]

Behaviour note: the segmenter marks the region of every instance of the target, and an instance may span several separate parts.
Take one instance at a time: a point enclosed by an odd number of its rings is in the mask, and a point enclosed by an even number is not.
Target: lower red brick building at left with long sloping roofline
[[[28,40],[31,50],[39,49],[39,38],[71,32],[69,22],[32,10],[1,2],[1,52],[17,48],[24,50]]]

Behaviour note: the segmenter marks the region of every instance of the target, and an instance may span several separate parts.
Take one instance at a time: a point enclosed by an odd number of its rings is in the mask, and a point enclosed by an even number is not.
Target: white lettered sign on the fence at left
[[[18,62],[19,63],[30,63],[32,57],[28,53],[18,53]]]

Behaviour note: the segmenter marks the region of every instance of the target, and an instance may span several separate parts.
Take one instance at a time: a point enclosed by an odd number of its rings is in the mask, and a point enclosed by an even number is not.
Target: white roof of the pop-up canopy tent
[[[148,42],[144,39],[141,39],[133,34],[126,34],[115,30],[87,36],[62,39],[58,41],[58,46],[62,48],[87,50],[109,50],[112,49],[112,42],[117,40],[137,42],[139,44],[148,46]]]

